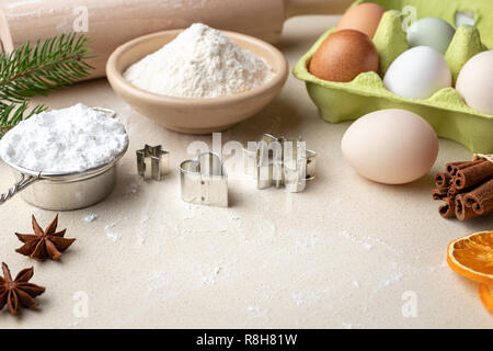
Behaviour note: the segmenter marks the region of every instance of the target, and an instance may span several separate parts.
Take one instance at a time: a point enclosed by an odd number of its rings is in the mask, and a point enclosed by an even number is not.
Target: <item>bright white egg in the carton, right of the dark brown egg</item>
[[[387,70],[383,86],[395,95],[427,99],[451,87],[451,72],[444,56],[429,46],[416,46],[401,54]]]

